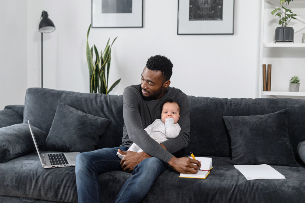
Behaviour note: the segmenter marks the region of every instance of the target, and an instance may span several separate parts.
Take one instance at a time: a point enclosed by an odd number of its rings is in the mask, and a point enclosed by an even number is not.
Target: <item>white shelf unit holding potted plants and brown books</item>
[[[305,99],[305,92],[279,92],[279,91],[262,91],[263,89],[263,64],[273,65],[273,77],[271,77],[271,86],[277,86],[279,90],[286,90],[287,87],[279,83],[281,80],[288,80],[288,75],[304,75],[305,70],[300,67],[303,66],[305,61],[304,49],[305,43],[300,43],[301,33],[305,30],[305,18],[304,18],[304,8],[305,0],[294,0],[292,8],[298,9],[296,11],[297,16],[294,20],[294,34],[295,42],[277,42],[274,41],[274,29],[278,26],[276,18],[271,15],[273,9],[279,8],[281,5],[278,0],[261,0],[262,10],[261,10],[261,29],[260,29],[260,65],[259,65],[259,84],[258,84],[258,97],[301,97]],[[296,43],[297,42],[297,43]],[[287,47],[287,48],[285,48]],[[290,48],[289,48],[290,47]],[[289,61],[289,62],[288,62]],[[291,71],[289,71],[291,68]],[[292,70],[297,70],[294,73]],[[302,90],[304,91],[304,90]]]

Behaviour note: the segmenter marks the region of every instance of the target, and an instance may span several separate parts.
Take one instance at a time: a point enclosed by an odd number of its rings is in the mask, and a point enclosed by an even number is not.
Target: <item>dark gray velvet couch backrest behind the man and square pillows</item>
[[[299,142],[305,140],[305,100],[299,99],[221,99],[188,96],[190,100],[190,142],[177,155],[231,157],[231,144],[222,116],[249,116],[288,110],[289,138],[296,154]],[[112,122],[99,141],[97,149],[117,147],[123,136],[123,97],[77,93],[45,88],[27,89],[24,120],[46,133],[49,132],[58,101],[87,114]]]

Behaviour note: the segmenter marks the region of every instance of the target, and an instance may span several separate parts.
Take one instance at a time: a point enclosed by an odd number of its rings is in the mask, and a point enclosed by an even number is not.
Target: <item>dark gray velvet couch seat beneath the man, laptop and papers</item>
[[[204,199],[205,202],[294,203],[304,200],[305,169],[302,167],[272,166],[286,179],[249,181],[228,164],[230,158],[212,157],[212,160],[213,169],[206,179],[180,178],[179,173],[168,167],[150,189],[148,202],[172,202],[173,199],[202,202]],[[113,202],[130,175],[123,171],[99,175],[104,202]],[[0,163],[0,180],[0,195],[77,202],[75,167],[43,169],[35,152]]]

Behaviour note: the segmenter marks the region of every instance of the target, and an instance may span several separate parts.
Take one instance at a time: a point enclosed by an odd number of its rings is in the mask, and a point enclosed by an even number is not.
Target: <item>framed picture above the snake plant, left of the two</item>
[[[143,0],[91,0],[92,27],[143,27]]]

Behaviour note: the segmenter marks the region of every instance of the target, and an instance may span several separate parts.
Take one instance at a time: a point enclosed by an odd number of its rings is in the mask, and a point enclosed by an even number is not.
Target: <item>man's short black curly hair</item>
[[[146,67],[152,71],[161,71],[164,82],[169,80],[173,74],[173,64],[165,56],[156,55],[150,57],[146,62]]]

